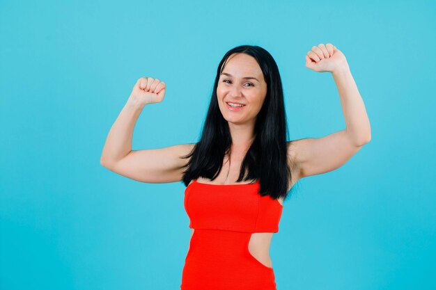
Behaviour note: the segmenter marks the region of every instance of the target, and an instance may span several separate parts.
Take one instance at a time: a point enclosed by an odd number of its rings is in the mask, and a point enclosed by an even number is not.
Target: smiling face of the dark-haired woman
[[[224,119],[234,124],[254,124],[266,94],[267,83],[256,59],[241,53],[229,56],[217,86],[219,109]]]

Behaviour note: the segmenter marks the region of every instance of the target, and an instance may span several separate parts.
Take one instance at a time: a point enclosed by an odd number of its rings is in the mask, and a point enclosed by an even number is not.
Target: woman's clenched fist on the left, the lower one
[[[135,83],[130,98],[138,104],[153,104],[162,102],[166,85],[159,79],[141,77]]]

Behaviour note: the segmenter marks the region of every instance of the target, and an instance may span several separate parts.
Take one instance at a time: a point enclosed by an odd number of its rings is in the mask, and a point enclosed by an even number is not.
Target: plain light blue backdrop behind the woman
[[[313,45],[345,54],[372,140],[300,180],[270,255],[278,290],[436,289],[434,1],[0,1],[0,288],[180,289],[185,186],[100,155],[141,76],[166,82],[133,149],[199,138],[219,60],[264,47],[290,139],[345,128]]]

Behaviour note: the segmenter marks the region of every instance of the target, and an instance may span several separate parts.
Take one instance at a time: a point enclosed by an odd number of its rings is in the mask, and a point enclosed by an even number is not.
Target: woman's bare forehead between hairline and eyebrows
[[[222,72],[227,72],[235,77],[263,76],[262,70],[256,59],[248,54],[232,54],[224,63]]]

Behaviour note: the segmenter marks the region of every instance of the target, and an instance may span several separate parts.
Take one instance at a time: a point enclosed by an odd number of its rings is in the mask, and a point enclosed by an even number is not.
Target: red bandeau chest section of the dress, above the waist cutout
[[[270,195],[261,196],[260,184],[203,184],[185,189],[184,206],[192,229],[238,232],[279,232],[283,205]]]

